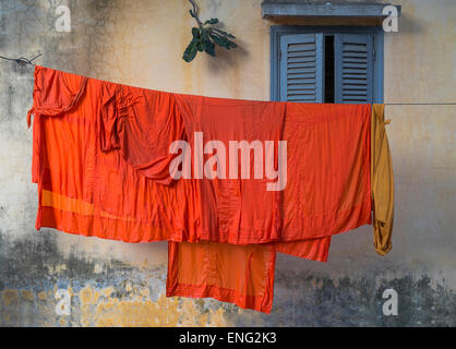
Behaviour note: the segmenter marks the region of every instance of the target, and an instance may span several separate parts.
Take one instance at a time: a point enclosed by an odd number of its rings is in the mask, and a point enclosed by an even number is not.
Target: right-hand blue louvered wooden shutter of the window
[[[372,103],[373,40],[371,34],[335,35],[336,103]]]

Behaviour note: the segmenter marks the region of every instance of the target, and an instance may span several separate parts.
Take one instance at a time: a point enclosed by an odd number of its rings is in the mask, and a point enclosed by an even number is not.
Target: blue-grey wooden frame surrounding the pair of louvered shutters
[[[383,28],[381,26],[301,26],[272,25],[271,26],[271,100],[280,99],[280,37],[292,34],[373,34],[375,38],[374,51],[374,84],[373,103],[383,103]]]

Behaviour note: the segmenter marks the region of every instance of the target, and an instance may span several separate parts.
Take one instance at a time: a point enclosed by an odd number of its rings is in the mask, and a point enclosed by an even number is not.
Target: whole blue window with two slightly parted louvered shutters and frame
[[[273,100],[383,101],[381,28],[272,26],[271,50]]]

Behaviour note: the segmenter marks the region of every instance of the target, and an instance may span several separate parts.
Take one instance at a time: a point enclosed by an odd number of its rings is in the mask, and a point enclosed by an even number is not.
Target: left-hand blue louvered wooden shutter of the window
[[[323,101],[323,34],[280,38],[280,100]]]

